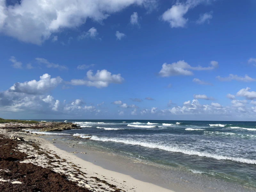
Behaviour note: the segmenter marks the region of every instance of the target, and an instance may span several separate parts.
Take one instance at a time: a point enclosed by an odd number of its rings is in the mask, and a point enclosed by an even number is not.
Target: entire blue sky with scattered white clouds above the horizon
[[[0,0],[0,117],[256,117],[254,0]]]

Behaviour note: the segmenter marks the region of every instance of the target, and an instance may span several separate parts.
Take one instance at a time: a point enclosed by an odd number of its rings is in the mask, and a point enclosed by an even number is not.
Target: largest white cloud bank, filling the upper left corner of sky
[[[131,5],[144,6],[150,10],[156,0],[22,0],[6,5],[0,1],[0,31],[20,41],[42,44],[54,33],[65,28],[77,28],[86,20],[102,23],[112,13]]]

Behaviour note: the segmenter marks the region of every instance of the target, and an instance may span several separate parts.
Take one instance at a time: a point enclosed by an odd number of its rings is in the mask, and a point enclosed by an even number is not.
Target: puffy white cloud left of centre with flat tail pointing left
[[[114,84],[122,84],[124,81],[124,78],[121,77],[121,74],[113,74],[111,75],[110,72],[108,72],[106,69],[103,70],[97,70],[97,73],[93,75],[92,70],[89,70],[87,72],[87,79],[72,79],[68,84],[72,85],[86,85],[88,87],[97,87],[97,88],[102,88],[102,87],[108,87],[109,84],[114,83]]]

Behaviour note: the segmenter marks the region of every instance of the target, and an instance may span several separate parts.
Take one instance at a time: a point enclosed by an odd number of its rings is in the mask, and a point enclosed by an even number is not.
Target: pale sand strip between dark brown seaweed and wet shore
[[[0,134],[3,134],[5,137],[10,138],[12,135],[14,137],[20,137],[23,138],[25,141],[33,141],[37,144],[40,144],[40,151],[42,153],[42,150],[45,152],[50,152],[53,156],[57,157],[57,159],[65,159],[65,162],[72,163],[71,165],[62,163],[64,167],[63,169],[56,168],[52,166],[52,170],[54,172],[60,172],[62,174],[68,175],[68,179],[72,181],[78,181],[79,186],[82,186],[84,188],[88,188],[92,191],[127,191],[127,192],[154,192],[154,191],[161,191],[161,192],[174,192],[173,190],[169,190],[166,188],[162,188],[160,186],[143,182],[140,180],[136,180],[132,178],[129,175],[125,175],[123,173],[110,171],[107,169],[104,169],[98,165],[95,165],[93,163],[90,163],[88,161],[85,161],[78,156],[76,156],[73,153],[68,153],[65,150],[61,150],[60,148],[57,148],[52,143],[47,141],[44,138],[40,138],[37,136],[32,136],[30,134],[27,134],[25,132],[7,132],[4,129],[0,129]],[[53,141],[54,142],[54,141]],[[20,152],[24,152],[26,154],[29,154],[29,156],[33,156],[35,158],[24,160],[20,163],[32,163],[36,164],[42,167],[50,168],[47,163],[46,157],[42,154],[38,155],[35,152],[35,148],[30,148],[23,144],[18,146],[18,150]],[[85,155],[85,154],[83,154]],[[52,160],[51,160],[52,161]],[[53,163],[54,164],[54,163]],[[60,164],[54,164],[54,166],[60,166]],[[75,167],[75,168],[74,168]],[[81,175],[76,177],[74,175],[74,170],[71,171],[71,169],[79,170],[79,172],[86,172],[85,178],[83,178]],[[68,170],[67,170],[68,169]],[[70,169],[70,170],[69,170]],[[72,173],[70,173],[72,172]],[[90,176],[90,180],[88,181],[88,176]],[[87,179],[86,179],[87,178]],[[107,181],[107,182],[106,182]],[[103,182],[103,183],[102,183]],[[107,183],[104,185],[104,189],[99,189],[99,185],[103,186],[104,183]],[[111,186],[115,186],[114,188],[111,188]],[[106,189],[106,190],[105,190]],[[118,190],[121,189],[121,190]]]

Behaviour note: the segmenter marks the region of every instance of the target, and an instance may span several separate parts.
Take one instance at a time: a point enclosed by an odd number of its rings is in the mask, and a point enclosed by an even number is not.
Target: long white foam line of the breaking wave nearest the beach
[[[166,146],[166,145],[161,145],[161,144],[152,143],[152,142],[142,142],[142,141],[136,141],[136,140],[124,140],[124,139],[114,139],[114,138],[99,138],[97,136],[92,136],[91,140],[112,141],[112,142],[124,143],[124,144],[130,144],[130,145],[140,145],[140,146],[148,147],[148,148],[158,148],[158,149],[162,149],[165,151],[183,153],[183,154],[187,154],[187,155],[197,155],[200,157],[214,158],[217,160],[231,160],[231,161],[236,161],[236,162],[240,162],[240,163],[256,164],[256,160],[254,160],[254,159],[245,159],[242,157],[230,157],[230,156],[216,155],[216,154],[211,154],[211,153],[207,153],[207,152],[200,152],[200,151],[195,151],[195,150],[190,150],[190,149],[182,149],[182,148],[178,148],[178,147]]]

